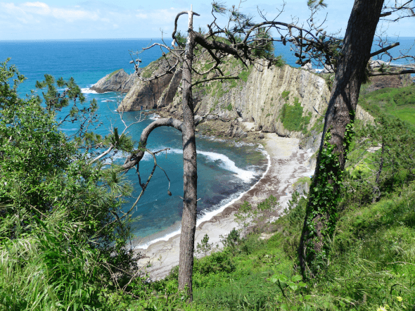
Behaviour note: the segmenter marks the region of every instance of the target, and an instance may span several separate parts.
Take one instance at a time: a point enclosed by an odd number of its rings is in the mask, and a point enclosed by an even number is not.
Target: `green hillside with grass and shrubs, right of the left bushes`
[[[385,89],[369,97],[375,106],[379,94],[397,101],[396,94],[407,92]],[[295,193],[286,215],[268,224],[263,220],[275,198],[240,210],[251,217],[249,234],[232,231],[222,239],[223,251],[196,260],[190,305],[176,294],[177,269],[161,281],[143,279],[136,295],[152,310],[414,310],[415,176],[407,154],[414,152],[415,132],[406,122],[383,118],[378,115],[376,126],[356,126],[330,259],[316,278],[300,276],[297,249],[307,197]],[[388,155],[378,147],[381,136]]]

